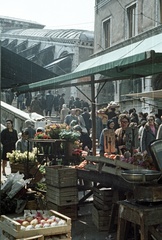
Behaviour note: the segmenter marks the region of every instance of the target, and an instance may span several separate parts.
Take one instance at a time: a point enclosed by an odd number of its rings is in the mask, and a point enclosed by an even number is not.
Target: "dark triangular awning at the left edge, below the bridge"
[[[14,88],[35,83],[57,75],[42,66],[0,47],[1,52],[1,89]]]

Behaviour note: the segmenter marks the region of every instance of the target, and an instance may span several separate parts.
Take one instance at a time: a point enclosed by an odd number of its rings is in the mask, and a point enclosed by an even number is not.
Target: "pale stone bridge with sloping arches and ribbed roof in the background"
[[[93,54],[92,31],[45,29],[45,25],[10,17],[0,17],[0,30],[2,47],[54,72],[56,76],[72,72]],[[86,95],[90,95],[88,87],[82,88]],[[67,101],[70,96],[84,99],[75,87],[58,91],[66,93]]]

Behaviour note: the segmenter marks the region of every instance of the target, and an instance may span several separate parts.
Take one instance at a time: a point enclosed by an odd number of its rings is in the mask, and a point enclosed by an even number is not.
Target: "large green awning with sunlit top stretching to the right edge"
[[[102,74],[113,80],[162,72],[162,34],[152,36],[81,63],[72,73],[18,87],[18,92],[55,88],[72,80]],[[74,83],[75,85],[75,83]]]

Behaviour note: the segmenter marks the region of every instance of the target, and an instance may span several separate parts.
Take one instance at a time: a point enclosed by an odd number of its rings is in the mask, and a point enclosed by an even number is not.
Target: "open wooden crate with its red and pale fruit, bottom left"
[[[24,214],[15,218],[1,215],[0,229],[7,239],[28,239],[41,235],[43,239],[70,240],[71,218],[54,210],[24,210]],[[36,238],[37,239],[37,238]]]

